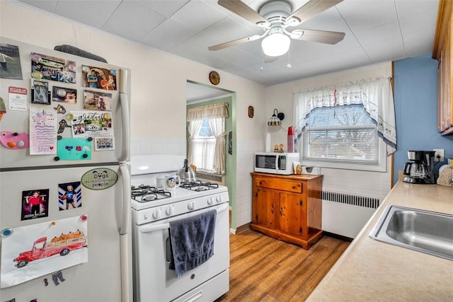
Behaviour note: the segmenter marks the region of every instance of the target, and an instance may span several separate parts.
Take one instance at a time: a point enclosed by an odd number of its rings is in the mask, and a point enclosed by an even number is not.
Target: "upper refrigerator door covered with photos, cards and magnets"
[[[22,80],[0,78],[0,97],[4,100],[6,107],[6,112],[0,122],[0,170],[61,165],[96,165],[130,160],[130,69],[77,57],[65,52],[48,50],[5,37],[0,37],[0,45],[18,47],[19,57],[13,58],[13,62],[21,62],[23,78]],[[71,68],[75,72],[75,83],[41,80],[48,86],[47,91],[50,96],[48,104],[32,102],[35,95],[33,91],[36,90],[32,89],[32,83],[39,80],[32,77],[32,62],[35,62],[32,59],[35,54],[74,62],[71,64]],[[12,62],[8,63],[11,66]],[[116,90],[84,87],[84,83],[87,81],[87,66],[116,73]],[[59,100],[57,98],[59,92],[67,93],[64,89],[75,91],[76,101]],[[12,106],[17,102],[15,95],[18,94],[13,93],[16,90],[26,92],[26,100],[20,106]],[[96,95],[96,104],[101,97],[103,100],[111,99],[111,106],[96,107],[90,103],[95,100],[88,99],[88,95]],[[41,125],[45,124],[45,121],[38,120],[38,117],[46,116],[41,115],[42,110],[51,112],[51,120],[57,121],[45,134],[47,135],[45,139],[56,141],[56,146],[41,142],[41,134],[44,132]],[[93,114],[93,112],[95,113]],[[100,120],[105,121],[105,124],[96,124]],[[110,123],[108,123],[109,120]],[[81,126],[80,130],[83,130],[84,134],[81,135],[77,132],[74,121],[78,121],[77,123]],[[45,127],[47,126],[48,124],[45,124]],[[11,136],[12,134],[15,136]],[[16,144],[18,141],[25,141],[26,135],[30,137],[30,144],[33,146],[39,144],[42,149],[36,151],[35,147],[32,152],[31,146],[23,149],[5,146],[8,143]],[[107,137],[104,140],[107,143],[101,140],[102,136]],[[85,140],[77,141],[76,139]],[[40,153],[36,154],[37,152]],[[86,157],[75,158],[74,156],[78,152],[80,156]]]

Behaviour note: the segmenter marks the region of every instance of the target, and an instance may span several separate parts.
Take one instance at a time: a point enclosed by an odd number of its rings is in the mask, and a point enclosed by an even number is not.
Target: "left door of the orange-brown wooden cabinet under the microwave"
[[[253,223],[263,226],[275,227],[274,213],[278,207],[278,193],[275,190],[265,189],[263,187],[256,188],[255,202],[255,216]]]

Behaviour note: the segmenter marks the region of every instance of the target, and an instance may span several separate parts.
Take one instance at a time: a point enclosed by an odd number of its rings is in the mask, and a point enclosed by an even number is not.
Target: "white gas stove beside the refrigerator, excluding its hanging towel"
[[[156,188],[157,176],[175,175],[183,159],[131,158],[135,302],[214,301],[229,291],[228,188],[206,182],[183,183],[171,191]],[[216,211],[214,255],[176,278],[170,269],[171,223],[211,210]]]

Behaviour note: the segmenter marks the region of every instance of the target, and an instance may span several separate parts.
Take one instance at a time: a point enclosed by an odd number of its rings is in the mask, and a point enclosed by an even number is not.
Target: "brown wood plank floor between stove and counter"
[[[251,230],[232,235],[229,292],[215,302],[304,301],[348,245],[324,236],[304,250]]]

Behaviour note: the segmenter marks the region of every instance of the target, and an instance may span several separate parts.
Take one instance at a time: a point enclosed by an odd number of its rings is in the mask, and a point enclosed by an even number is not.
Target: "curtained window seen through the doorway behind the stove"
[[[225,174],[225,117],[228,117],[228,103],[217,103],[188,110],[189,122],[189,163],[197,170],[207,173]],[[202,120],[209,120],[214,139],[195,139]]]

